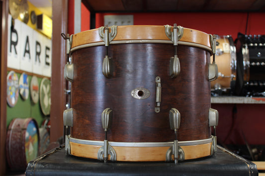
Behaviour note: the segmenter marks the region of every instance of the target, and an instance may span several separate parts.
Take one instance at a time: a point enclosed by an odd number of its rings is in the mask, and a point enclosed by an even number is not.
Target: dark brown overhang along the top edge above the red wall
[[[82,0],[90,12],[265,12],[265,0]]]

